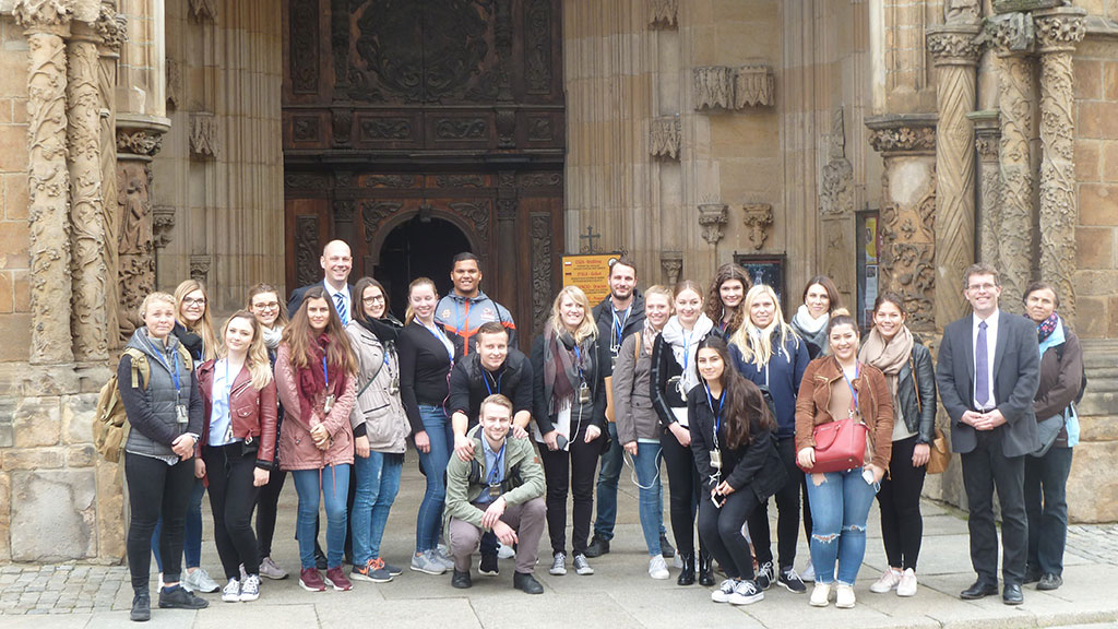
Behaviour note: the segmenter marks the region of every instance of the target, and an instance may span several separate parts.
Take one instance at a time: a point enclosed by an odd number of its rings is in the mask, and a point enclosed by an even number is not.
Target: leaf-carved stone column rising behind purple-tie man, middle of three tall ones
[[[1002,139],[998,147],[1002,190],[997,250],[1002,274],[1002,306],[1021,311],[1021,294],[1032,276],[1033,169],[1029,139],[1033,128],[1032,18],[1027,13],[998,16],[989,32],[997,50],[998,112]]]

